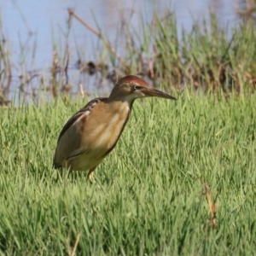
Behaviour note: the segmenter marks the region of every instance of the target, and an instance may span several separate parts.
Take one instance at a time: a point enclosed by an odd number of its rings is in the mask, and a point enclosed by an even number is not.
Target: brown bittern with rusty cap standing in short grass
[[[93,183],[96,167],[113,150],[124,131],[133,102],[152,96],[177,100],[137,76],[119,79],[108,97],[91,100],[67,120],[57,140],[53,167],[89,171],[87,177]]]

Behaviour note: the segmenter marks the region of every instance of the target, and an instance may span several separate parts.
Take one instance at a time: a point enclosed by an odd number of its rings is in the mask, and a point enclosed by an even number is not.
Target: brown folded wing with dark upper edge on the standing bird
[[[96,98],[88,102],[84,108],[81,108],[78,113],[75,113],[67,123],[63,126],[58,138],[55,149],[55,157],[53,166],[61,167],[61,163],[75,155],[84,154],[86,148],[81,148],[81,125],[85,125],[87,115],[96,103],[101,102],[105,98]]]

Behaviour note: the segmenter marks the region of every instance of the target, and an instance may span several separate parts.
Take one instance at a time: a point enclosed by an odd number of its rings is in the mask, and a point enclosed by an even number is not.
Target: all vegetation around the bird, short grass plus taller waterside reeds
[[[72,26],[79,17],[69,15]],[[0,255],[253,255],[255,23],[227,34],[212,16],[211,26],[179,35],[172,14],[155,15],[142,33],[127,26],[125,35],[123,55],[98,34],[102,58],[77,49],[75,66],[67,36],[48,73],[20,64],[16,98],[0,40]],[[88,102],[72,68],[109,88],[141,74],[178,98],[135,102],[95,184],[84,172],[57,179],[52,169],[62,125]]]

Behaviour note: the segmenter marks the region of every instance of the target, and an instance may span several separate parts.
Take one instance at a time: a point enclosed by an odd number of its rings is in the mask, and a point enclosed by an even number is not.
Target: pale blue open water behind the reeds
[[[47,69],[51,66],[53,42],[65,42],[67,8],[73,8],[76,14],[91,26],[98,26],[98,30],[101,28],[109,42],[122,55],[120,38],[125,37],[122,33],[122,22],[129,22],[132,29],[139,34],[142,20],[150,24],[154,11],[164,16],[166,10],[172,10],[177,18],[178,32],[182,29],[189,32],[193,21],[209,20],[209,9],[211,9],[217,15],[221,26],[231,28],[236,26],[238,21],[234,3],[233,0],[133,0],[118,3],[113,0],[16,0],[3,1],[1,13],[3,32],[9,39],[13,65],[16,67],[17,73],[14,75],[18,77],[19,64],[22,61],[26,62],[28,70]],[[28,37],[30,31],[32,37]],[[34,42],[36,42],[36,51],[34,51]],[[87,60],[96,60],[97,56],[101,55],[96,51],[98,42],[94,34],[77,20],[73,20],[69,40],[73,63],[78,60],[76,48],[84,50]]]

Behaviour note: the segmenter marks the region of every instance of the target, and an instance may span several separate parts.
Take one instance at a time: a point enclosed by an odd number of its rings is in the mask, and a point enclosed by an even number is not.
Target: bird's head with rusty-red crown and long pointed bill
[[[150,87],[143,79],[131,75],[119,79],[109,98],[133,102],[137,98],[152,96],[176,100],[175,97]]]

